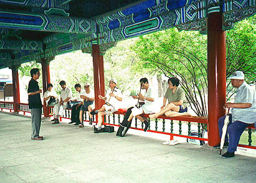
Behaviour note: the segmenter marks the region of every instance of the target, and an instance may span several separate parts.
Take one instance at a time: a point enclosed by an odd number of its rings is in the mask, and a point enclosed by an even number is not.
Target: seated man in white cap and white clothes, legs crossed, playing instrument
[[[98,114],[98,125],[95,126],[96,128],[98,128],[98,130],[95,131],[96,133],[103,132],[103,115],[109,115],[113,112],[116,112],[120,108],[120,102],[123,99],[120,89],[116,87],[116,83],[116,79],[110,79],[110,89],[108,89],[106,96],[98,96],[99,99],[105,100],[106,104],[102,105],[102,108],[90,112],[90,114],[92,115]]]

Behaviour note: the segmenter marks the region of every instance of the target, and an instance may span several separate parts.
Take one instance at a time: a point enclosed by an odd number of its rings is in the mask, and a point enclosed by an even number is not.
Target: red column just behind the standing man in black
[[[44,93],[47,91],[47,84],[50,83],[50,66],[49,61],[46,61],[45,58],[41,59],[42,65],[42,87]],[[46,102],[44,102],[44,117],[49,117],[49,108],[46,107]]]

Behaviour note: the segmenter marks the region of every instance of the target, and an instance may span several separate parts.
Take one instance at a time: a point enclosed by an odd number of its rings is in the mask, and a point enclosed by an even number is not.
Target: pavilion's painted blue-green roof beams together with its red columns
[[[56,55],[91,53],[98,96],[105,92],[103,55],[115,42],[171,27],[207,33],[209,145],[213,146],[219,143],[217,120],[224,115],[225,30],[255,13],[255,0],[0,0],[0,69],[12,69],[14,111],[18,111],[22,63],[42,64],[46,91],[50,61]],[[96,99],[95,106],[101,105]]]

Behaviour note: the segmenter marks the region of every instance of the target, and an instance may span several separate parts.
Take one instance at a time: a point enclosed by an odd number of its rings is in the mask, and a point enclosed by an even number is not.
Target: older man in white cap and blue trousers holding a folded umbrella
[[[234,98],[234,103],[227,102],[224,107],[232,108],[229,115],[229,125],[227,125],[227,134],[225,136],[224,146],[228,146],[227,152],[222,155],[222,158],[230,158],[235,156],[237,145],[239,144],[240,136],[245,128],[256,122],[256,92],[244,81],[244,73],[235,71],[231,79],[233,87],[237,88]],[[224,125],[224,117],[219,118],[219,135],[222,136],[222,127]],[[229,141],[228,141],[229,140]],[[219,145],[214,146],[219,148]]]

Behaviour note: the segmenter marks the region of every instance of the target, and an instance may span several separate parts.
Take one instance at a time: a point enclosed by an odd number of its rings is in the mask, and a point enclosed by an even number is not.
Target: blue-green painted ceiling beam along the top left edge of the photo
[[[67,3],[67,0],[0,0],[0,4],[6,4],[9,6],[36,7],[43,9],[54,7],[69,10],[69,4]]]

